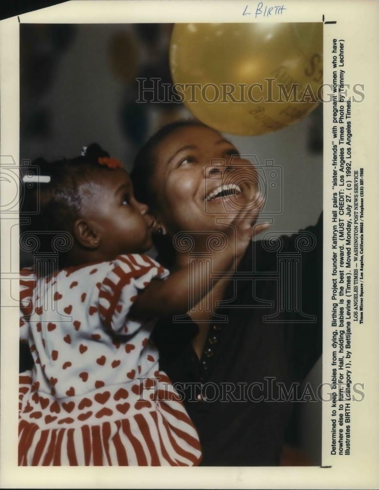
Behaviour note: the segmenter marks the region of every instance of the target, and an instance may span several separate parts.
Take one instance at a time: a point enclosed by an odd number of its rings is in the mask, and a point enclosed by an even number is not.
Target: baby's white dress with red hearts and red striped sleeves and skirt
[[[128,317],[168,274],[137,254],[37,278],[22,271],[20,334],[34,367],[20,375],[19,465],[193,466],[198,434],[149,340]]]

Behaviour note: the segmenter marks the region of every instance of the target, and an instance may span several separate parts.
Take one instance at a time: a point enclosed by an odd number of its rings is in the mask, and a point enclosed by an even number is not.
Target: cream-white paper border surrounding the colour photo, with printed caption
[[[246,1],[70,1],[19,16],[22,23],[167,23],[167,22],[254,22],[258,2]],[[265,2],[274,6],[276,2]],[[354,348],[359,351],[354,365],[355,380],[365,383],[365,401],[352,410],[352,455],[337,459],[330,456],[329,407],[323,407],[323,460],[318,467],[18,467],[17,399],[18,399],[18,308],[1,308],[1,488],[378,488],[379,419],[378,373],[379,329],[376,327],[378,302],[378,238],[376,199],[378,177],[378,2],[375,1],[307,1],[283,3],[286,12],[280,17],[260,22],[321,22],[336,20],[324,26],[324,52],[330,39],[343,34],[349,63],[349,83],[364,83],[365,100],[355,105],[353,114],[355,159],[365,168],[365,322],[354,331]],[[250,16],[243,16],[248,5]],[[261,16],[262,17],[262,16]],[[328,56],[324,57],[324,83],[327,83]],[[1,80],[1,163],[6,155],[19,161],[19,21],[13,17],[0,22]],[[352,79],[354,78],[354,80]],[[324,105],[324,168],[330,158],[331,104]],[[8,159],[7,159],[8,162]],[[324,171],[324,216],[331,209],[330,172]],[[2,186],[1,202],[7,189]],[[325,220],[325,217],[324,217]],[[1,221],[1,265],[7,270],[11,220]],[[325,227],[324,227],[325,231]],[[18,237],[15,237],[17,239]],[[328,234],[324,249],[328,253]],[[12,270],[18,268],[18,252],[13,251]],[[330,262],[324,262],[324,275]],[[324,283],[324,292],[329,284]],[[7,291],[1,289],[2,303],[9,304]],[[7,302],[8,300],[8,302]],[[324,318],[329,315],[324,300]],[[328,362],[330,339],[324,325],[324,362]],[[359,328],[359,326],[358,326]],[[324,369],[330,372],[329,367]],[[328,381],[324,379],[324,381]],[[325,413],[326,412],[326,413]]]

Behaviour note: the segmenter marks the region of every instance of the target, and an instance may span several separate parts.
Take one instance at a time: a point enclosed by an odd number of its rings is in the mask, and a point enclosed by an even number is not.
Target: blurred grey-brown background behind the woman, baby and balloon
[[[191,117],[183,104],[136,103],[137,77],[172,83],[172,24],[20,25],[20,158],[79,155],[97,142],[131,170],[139,147],[161,126]],[[149,83],[149,82],[147,82]],[[322,210],[322,105],[305,119],[263,136],[226,137],[261,165],[282,168],[283,208],[272,231],[315,224]],[[21,256],[22,266],[31,257]],[[20,368],[26,352],[21,351]],[[307,381],[321,382],[321,361]],[[300,404],[297,404],[300,405]],[[288,430],[283,464],[321,463],[321,403],[301,404]]]

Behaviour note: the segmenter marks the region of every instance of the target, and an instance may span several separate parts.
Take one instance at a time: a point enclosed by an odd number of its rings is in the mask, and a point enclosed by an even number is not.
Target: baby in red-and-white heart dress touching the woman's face
[[[162,230],[121,163],[98,145],[35,165],[41,175],[24,178],[36,182],[30,198],[40,204],[31,229],[42,251],[62,232],[72,246],[52,273],[22,270],[20,335],[34,367],[20,375],[19,465],[198,465],[196,429],[149,337],[152,319],[193,306],[190,277],[201,295],[217,281],[201,258],[191,276],[188,267],[169,275],[143,255]],[[235,217],[237,249],[231,227],[214,252],[217,270],[250,242],[252,223],[241,220],[248,212]]]

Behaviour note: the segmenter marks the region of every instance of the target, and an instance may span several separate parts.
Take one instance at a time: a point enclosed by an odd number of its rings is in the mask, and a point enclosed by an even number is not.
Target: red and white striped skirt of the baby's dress
[[[190,418],[172,387],[146,409],[97,425],[50,428],[43,414],[36,422],[23,416],[31,400],[30,371],[20,375],[19,466],[196,466],[201,447]],[[168,379],[168,378],[167,378]],[[171,393],[171,395],[170,395]],[[34,394],[34,396],[36,396]],[[44,417],[45,415],[45,417]],[[44,424],[45,422],[45,424]]]

